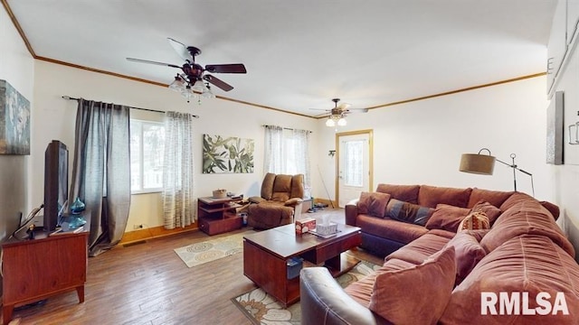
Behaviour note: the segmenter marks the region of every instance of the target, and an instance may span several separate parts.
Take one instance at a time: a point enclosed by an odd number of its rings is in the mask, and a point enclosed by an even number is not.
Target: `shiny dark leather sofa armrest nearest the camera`
[[[350,297],[325,267],[302,269],[299,291],[303,325],[387,323]]]

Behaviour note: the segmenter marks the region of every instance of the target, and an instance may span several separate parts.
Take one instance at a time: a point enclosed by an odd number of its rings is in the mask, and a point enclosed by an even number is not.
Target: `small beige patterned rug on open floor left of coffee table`
[[[201,243],[195,243],[174,249],[175,253],[188,267],[202,265],[220,258],[231,256],[243,251],[243,236],[254,231],[219,237]]]

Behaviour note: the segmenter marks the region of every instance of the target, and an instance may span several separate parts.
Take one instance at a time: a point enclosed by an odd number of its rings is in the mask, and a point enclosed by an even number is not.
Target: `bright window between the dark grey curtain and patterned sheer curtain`
[[[130,120],[130,190],[132,193],[163,189],[165,126],[160,122]]]

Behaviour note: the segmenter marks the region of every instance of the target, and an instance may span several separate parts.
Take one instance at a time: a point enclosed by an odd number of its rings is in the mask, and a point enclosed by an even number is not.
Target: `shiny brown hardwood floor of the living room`
[[[319,211],[344,222],[343,209]],[[76,292],[48,299],[42,305],[14,311],[21,324],[251,324],[230,301],[255,285],[243,275],[243,255],[224,257],[188,268],[174,249],[210,238],[201,231],[117,246],[89,258],[85,302]],[[363,250],[361,259],[382,264]]]

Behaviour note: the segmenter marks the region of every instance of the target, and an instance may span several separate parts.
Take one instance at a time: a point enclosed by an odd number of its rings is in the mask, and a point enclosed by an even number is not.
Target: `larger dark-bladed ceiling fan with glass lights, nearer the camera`
[[[157,62],[153,60],[141,60],[134,58],[127,58],[129,61],[147,63],[147,64],[157,64],[166,67],[180,69],[181,72],[177,72],[175,80],[169,85],[169,88],[180,92],[183,97],[189,98],[195,97],[195,92],[200,93],[205,98],[214,98],[213,92],[211,92],[211,87],[209,84],[214,85],[217,88],[221,88],[223,91],[230,91],[233,86],[226,83],[222,79],[218,79],[213,75],[205,72],[211,73],[247,73],[245,66],[242,63],[231,63],[231,64],[207,64],[204,67],[195,62],[195,56],[201,54],[201,50],[195,46],[185,46],[182,42],[178,42],[170,37],[167,37],[167,41],[177,52],[177,54],[185,60],[182,66],[176,64]]]

